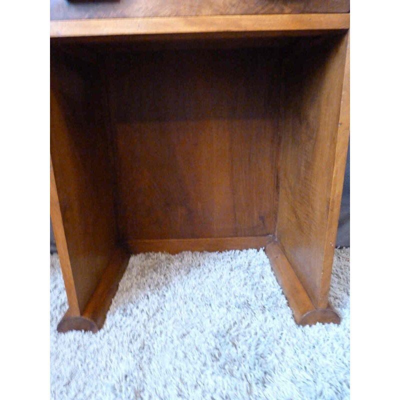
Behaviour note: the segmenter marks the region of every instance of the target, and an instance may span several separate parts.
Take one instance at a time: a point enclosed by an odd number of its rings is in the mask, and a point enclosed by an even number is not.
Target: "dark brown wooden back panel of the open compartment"
[[[171,50],[107,63],[122,237],[272,233],[276,54]]]

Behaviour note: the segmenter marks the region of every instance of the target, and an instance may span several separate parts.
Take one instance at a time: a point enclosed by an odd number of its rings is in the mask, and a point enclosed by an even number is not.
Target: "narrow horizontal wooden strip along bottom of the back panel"
[[[212,237],[199,239],[129,240],[127,247],[134,253],[161,251],[177,254],[181,251],[224,251],[265,247],[273,236]]]

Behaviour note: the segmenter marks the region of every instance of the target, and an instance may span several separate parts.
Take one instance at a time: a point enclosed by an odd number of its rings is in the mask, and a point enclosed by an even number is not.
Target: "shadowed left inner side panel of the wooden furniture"
[[[80,313],[117,241],[102,96],[90,66],[51,49],[50,153],[62,216],[53,223],[54,231],[63,224]]]

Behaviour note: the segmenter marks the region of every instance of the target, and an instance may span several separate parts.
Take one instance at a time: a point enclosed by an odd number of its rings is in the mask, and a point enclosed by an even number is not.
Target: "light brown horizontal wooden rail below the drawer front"
[[[123,35],[263,35],[348,29],[349,14],[224,15],[154,18],[71,19],[50,21],[50,37]],[[229,35],[230,33],[230,35]]]

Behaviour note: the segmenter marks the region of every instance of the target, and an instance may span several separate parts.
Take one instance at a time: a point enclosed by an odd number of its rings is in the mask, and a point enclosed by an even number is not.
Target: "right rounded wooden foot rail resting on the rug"
[[[339,315],[328,304],[321,309],[314,307],[277,241],[268,243],[265,247],[265,253],[297,324],[313,325],[316,322],[340,322]]]

